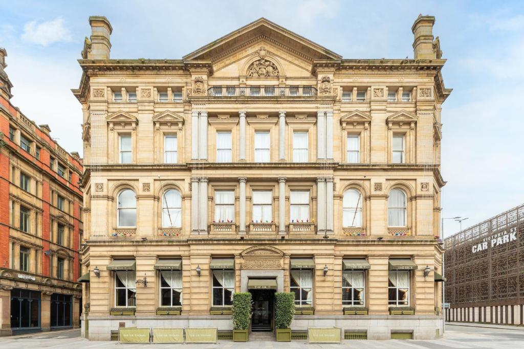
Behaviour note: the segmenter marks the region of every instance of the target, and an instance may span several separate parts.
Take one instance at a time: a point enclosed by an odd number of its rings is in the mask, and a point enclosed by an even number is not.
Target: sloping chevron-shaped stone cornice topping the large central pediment
[[[183,60],[216,61],[233,51],[244,50],[246,46],[260,40],[265,40],[275,46],[287,49],[287,51],[293,52],[293,54],[309,61],[342,59],[341,55],[289,31],[266,18],[260,18],[185,55]]]

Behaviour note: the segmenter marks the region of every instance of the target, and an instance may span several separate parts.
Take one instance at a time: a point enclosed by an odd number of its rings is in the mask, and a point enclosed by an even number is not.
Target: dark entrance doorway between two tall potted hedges
[[[275,290],[250,289],[253,296],[252,332],[271,332],[275,306]]]

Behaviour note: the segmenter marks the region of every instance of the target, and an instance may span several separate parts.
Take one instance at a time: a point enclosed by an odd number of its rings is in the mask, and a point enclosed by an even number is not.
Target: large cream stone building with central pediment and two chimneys
[[[274,329],[441,332],[444,88],[434,17],[414,59],[343,59],[260,18],[182,59],[110,59],[90,17],[83,110],[84,335],[232,329],[231,295]]]

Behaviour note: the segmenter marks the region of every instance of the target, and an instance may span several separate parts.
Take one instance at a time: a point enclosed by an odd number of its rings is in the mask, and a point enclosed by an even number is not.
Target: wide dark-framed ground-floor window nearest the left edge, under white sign
[[[39,291],[14,289],[11,291],[11,328],[40,327]]]

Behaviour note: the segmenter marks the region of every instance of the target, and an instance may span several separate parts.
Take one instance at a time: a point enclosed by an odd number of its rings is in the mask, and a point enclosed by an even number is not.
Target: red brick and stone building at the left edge
[[[82,161],[10,98],[0,48],[0,335],[79,327]]]

